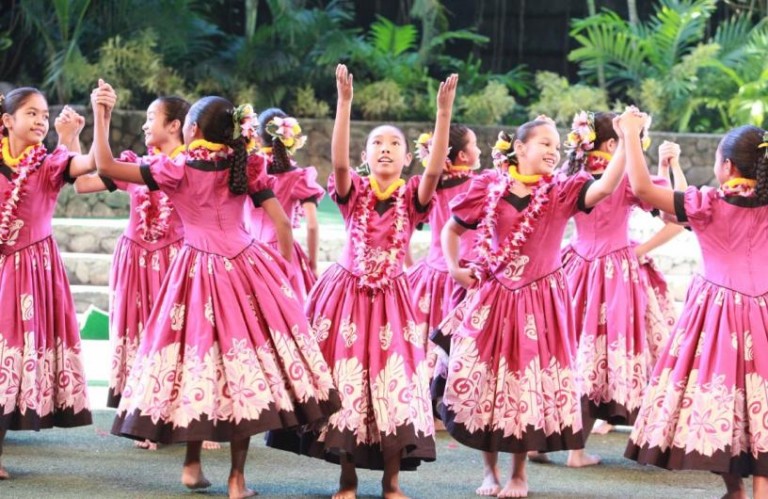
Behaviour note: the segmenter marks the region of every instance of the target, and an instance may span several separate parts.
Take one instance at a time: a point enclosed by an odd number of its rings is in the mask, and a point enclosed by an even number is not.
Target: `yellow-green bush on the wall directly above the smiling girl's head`
[[[573,115],[581,110],[608,110],[605,90],[587,85],[570,85],[562,76],[549,71],[536,73],[539,100],[529,107],[529,116],[546,114],[558,125],[570,127]]]

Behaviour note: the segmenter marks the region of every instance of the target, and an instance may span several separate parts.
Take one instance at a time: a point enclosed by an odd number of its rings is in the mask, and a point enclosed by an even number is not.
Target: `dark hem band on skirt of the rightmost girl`
[[[743,477],[756,475],[768,477],[768,453],[759,452],[757,457],[742,452],[731,455],[731,448],[716,451],[711,456],[699,452],[685,452],[679,447],[661,450],[659,447],[639,447],[629,442],[624,457],[640,464],[649,464],[672,471],[697,470],[713,473],[734,474]]]

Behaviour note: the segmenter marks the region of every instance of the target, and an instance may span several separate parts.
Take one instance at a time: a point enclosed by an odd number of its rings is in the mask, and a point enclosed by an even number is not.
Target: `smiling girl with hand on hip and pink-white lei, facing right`
[[[598,180],[586,172],[553,174],[559,148],[548,119],[522,125],[514,140],[500,134],[497,168],[473,177],[443,229],[448,269],[469,291],[433,334],[450,355],[438,408],[454,438],[485,452],[478,493],[525,497],[527,451],[584,445],[560,241],[571,216],[616,189],[623,165],[612,163]],[[459,241],[474,229],[480,261],[464,268]],[[513,453],[503,487],[499,451]]]

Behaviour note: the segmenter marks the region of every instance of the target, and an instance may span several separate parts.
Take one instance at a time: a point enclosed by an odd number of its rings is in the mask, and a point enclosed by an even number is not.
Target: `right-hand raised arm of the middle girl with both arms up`
[[[445,167],[445,158],[448,157],[448,133],[451,128],[451,113],[458,82],[459,76],[452,74],[440,83],[437,91],[437,116],[435,132],[432,135],[432,151],[430,151],[427,168],[419,182],[419,204],[422,206],[426,206],[435,194],[437,183]]]

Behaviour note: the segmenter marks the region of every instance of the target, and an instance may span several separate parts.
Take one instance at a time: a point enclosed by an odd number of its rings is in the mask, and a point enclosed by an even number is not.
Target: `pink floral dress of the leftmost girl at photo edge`
[[[75,307],[51,236],[71,157],[59,147],[29,176],[14,228],[0,241],[2,430],[91,423]],[[0,174],[0,205],[12,189]]]

